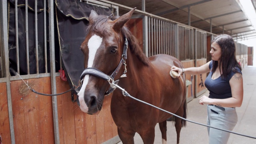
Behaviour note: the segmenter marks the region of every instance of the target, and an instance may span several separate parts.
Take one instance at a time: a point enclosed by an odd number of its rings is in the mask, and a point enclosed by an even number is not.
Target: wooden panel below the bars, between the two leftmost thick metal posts
[[[34,90],[49,94],[50,78],[28,81]],[[26,144],[54,143],[52,99],[33,93],[22,80],[11,82],[15,141]]]

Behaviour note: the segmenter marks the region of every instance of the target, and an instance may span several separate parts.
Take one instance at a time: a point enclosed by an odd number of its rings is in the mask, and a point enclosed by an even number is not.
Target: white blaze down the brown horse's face
[[[88,54],[88,64],[87,64],[88,68],[92,68],[96,52],[98,48],[100,48],[101,43],[102,43],[102,37],[97,36],[96,34],[94,34],[89,39],[88,41],[89,54]],[[77,94],[79,96],[78,100],[80,102],[80,108],[83,112],[88,112],[88,106],[84,102],[84,91],[88,84],[88,81],[89,81],[89,75],[87,74],[86,76],[84,76],[84,82],[83,82],[82,88]]]

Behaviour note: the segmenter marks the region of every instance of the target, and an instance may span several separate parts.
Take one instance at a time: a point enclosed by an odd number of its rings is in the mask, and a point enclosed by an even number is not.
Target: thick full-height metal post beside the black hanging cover
[[[49,48],[50,48],[50,68],[51,68],[51,87],[52,94],[56,94],[56,70],[55,70],[55,52],[54,52],[54,1],[48,1],[49,12]],[[55,144],[60,144],[59,125],[58,125],[58,105],[57,96],[52,96],[52,112],[54,123]]]

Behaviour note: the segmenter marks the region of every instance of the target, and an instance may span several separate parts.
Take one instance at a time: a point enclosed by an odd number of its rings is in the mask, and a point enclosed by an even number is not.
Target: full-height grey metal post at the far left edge
[[[4,49],[4,63],[5,63],[5,76],[6,76],[6,93],[7,93],[7,103],[8,103],[8,114],[9,114],[9,124],[10,124],[10,135],[11,142],[15,144],[15,134],[14,134],[14,123],[12,115],[12,95],[11,95],[11,85],[10,85],[10,74],[9,74],[9,50],[8,50],[8,10],[7,10],[7,0],[0,0],[0,44]]]

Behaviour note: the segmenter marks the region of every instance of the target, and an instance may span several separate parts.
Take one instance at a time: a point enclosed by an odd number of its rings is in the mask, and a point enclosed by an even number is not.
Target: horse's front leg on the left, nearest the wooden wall
[[[124,132],[122,129],[117,129],[118,136],[123,144],[134,144],[135,132]]]

